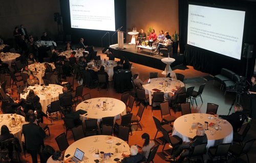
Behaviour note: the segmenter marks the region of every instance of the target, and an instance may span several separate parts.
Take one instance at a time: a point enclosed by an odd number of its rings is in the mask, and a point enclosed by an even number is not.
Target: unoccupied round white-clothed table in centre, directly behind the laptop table
[[[103,101],[106,102],[106,108],[103,108]],[[98,119],[101,121],[103,117],[115,117],[115,119],[120,119],[120,115],[126,114],[125,104],[118,99],[100,97],[92,98],[79,103],[76,106],[76,110],[87,111],[86,115],[81,115],[82,122],[88,118]]]

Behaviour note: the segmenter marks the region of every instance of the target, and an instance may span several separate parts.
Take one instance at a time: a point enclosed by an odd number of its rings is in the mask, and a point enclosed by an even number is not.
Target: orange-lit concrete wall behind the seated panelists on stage
[[[150,26],[155,29],[156,34],[160,30],[169,31],[169,34],[179,31],[178,0],[127,0],[126,1],[126,32],[134,27],[137,31],[144,32]],[[127,41],[131,36],[127,35]]]

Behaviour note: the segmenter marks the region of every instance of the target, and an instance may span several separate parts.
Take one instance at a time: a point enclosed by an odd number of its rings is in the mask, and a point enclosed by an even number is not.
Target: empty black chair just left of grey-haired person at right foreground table
[[[173,135],[173,136],[169,136],[168,132],[165,129],[162,129],[162,133],[163,133],[163,138],[164,138],[164,145],[163,145],[163,149],[166,145],[166,143],[168,143],[169,145],[171,145],[173,147],[172,153],[175,150],[175,148],[177,146],[179,146],[180,144],[182,144],[182,139],[180,137],[178,137],[177,135]]]

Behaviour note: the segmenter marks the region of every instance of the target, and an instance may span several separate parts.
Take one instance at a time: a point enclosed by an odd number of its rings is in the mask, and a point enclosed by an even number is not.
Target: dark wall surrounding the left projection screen
[[[70,22],[69,0],[61,0],[60,8],[61,8],[61,15],[63,20],[63,31],[65,35],[72,35],[72,38],[71,38],[72,44],[78,43],[79,38],[83,37],[85,44],[101,46],[101,37],[107,31],[72,29],[70,24],[71,22]],[[116,29],[123,26],[122,31],[126,31],[126,0],[115,0],[115,17],[116,17]],[[114,34],[114,32],[109,32],[109,33],[110,33],[110,44],[111,44],[111,35]],[[116,39],[117,34],[114,35],[114,37]],[[125,34],[124,34],[124,38],[126,38]],[[108,40],[109,40],[108,37],[104,37],[103,45],[108,44]]]

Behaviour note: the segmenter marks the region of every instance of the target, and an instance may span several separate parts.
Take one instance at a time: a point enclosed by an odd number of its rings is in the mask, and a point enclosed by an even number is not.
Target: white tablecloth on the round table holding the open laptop
[[[95,137],[98,138],[97,142],[95,142]],[[111,143],[106,143],[107,140]],[[121,145],[117,146],[116,143],[121,143]],[[95,154],[98,150],[99,152],[103,151],[104,153],[114,154],[108,161],[105,160],[105,162],[116,162],[114,161],[115,158],[119,158],[121,161],[121,159],[123,159],[122,153],[127,155],[131,154],[129,145],[123,140],[107,135],[96,135],[80,139],[71,144],[65,151],[65,156],[67,154],[70,154],[70,156],[68,158],[64,157],[64,160],[74,156],[76,148],[84,152],[83,161],[92,163],[95,162],[95,159],[101,159],[99,158],[99,155]],[[115,152],[116,148],[118,149],[118,153]]]

